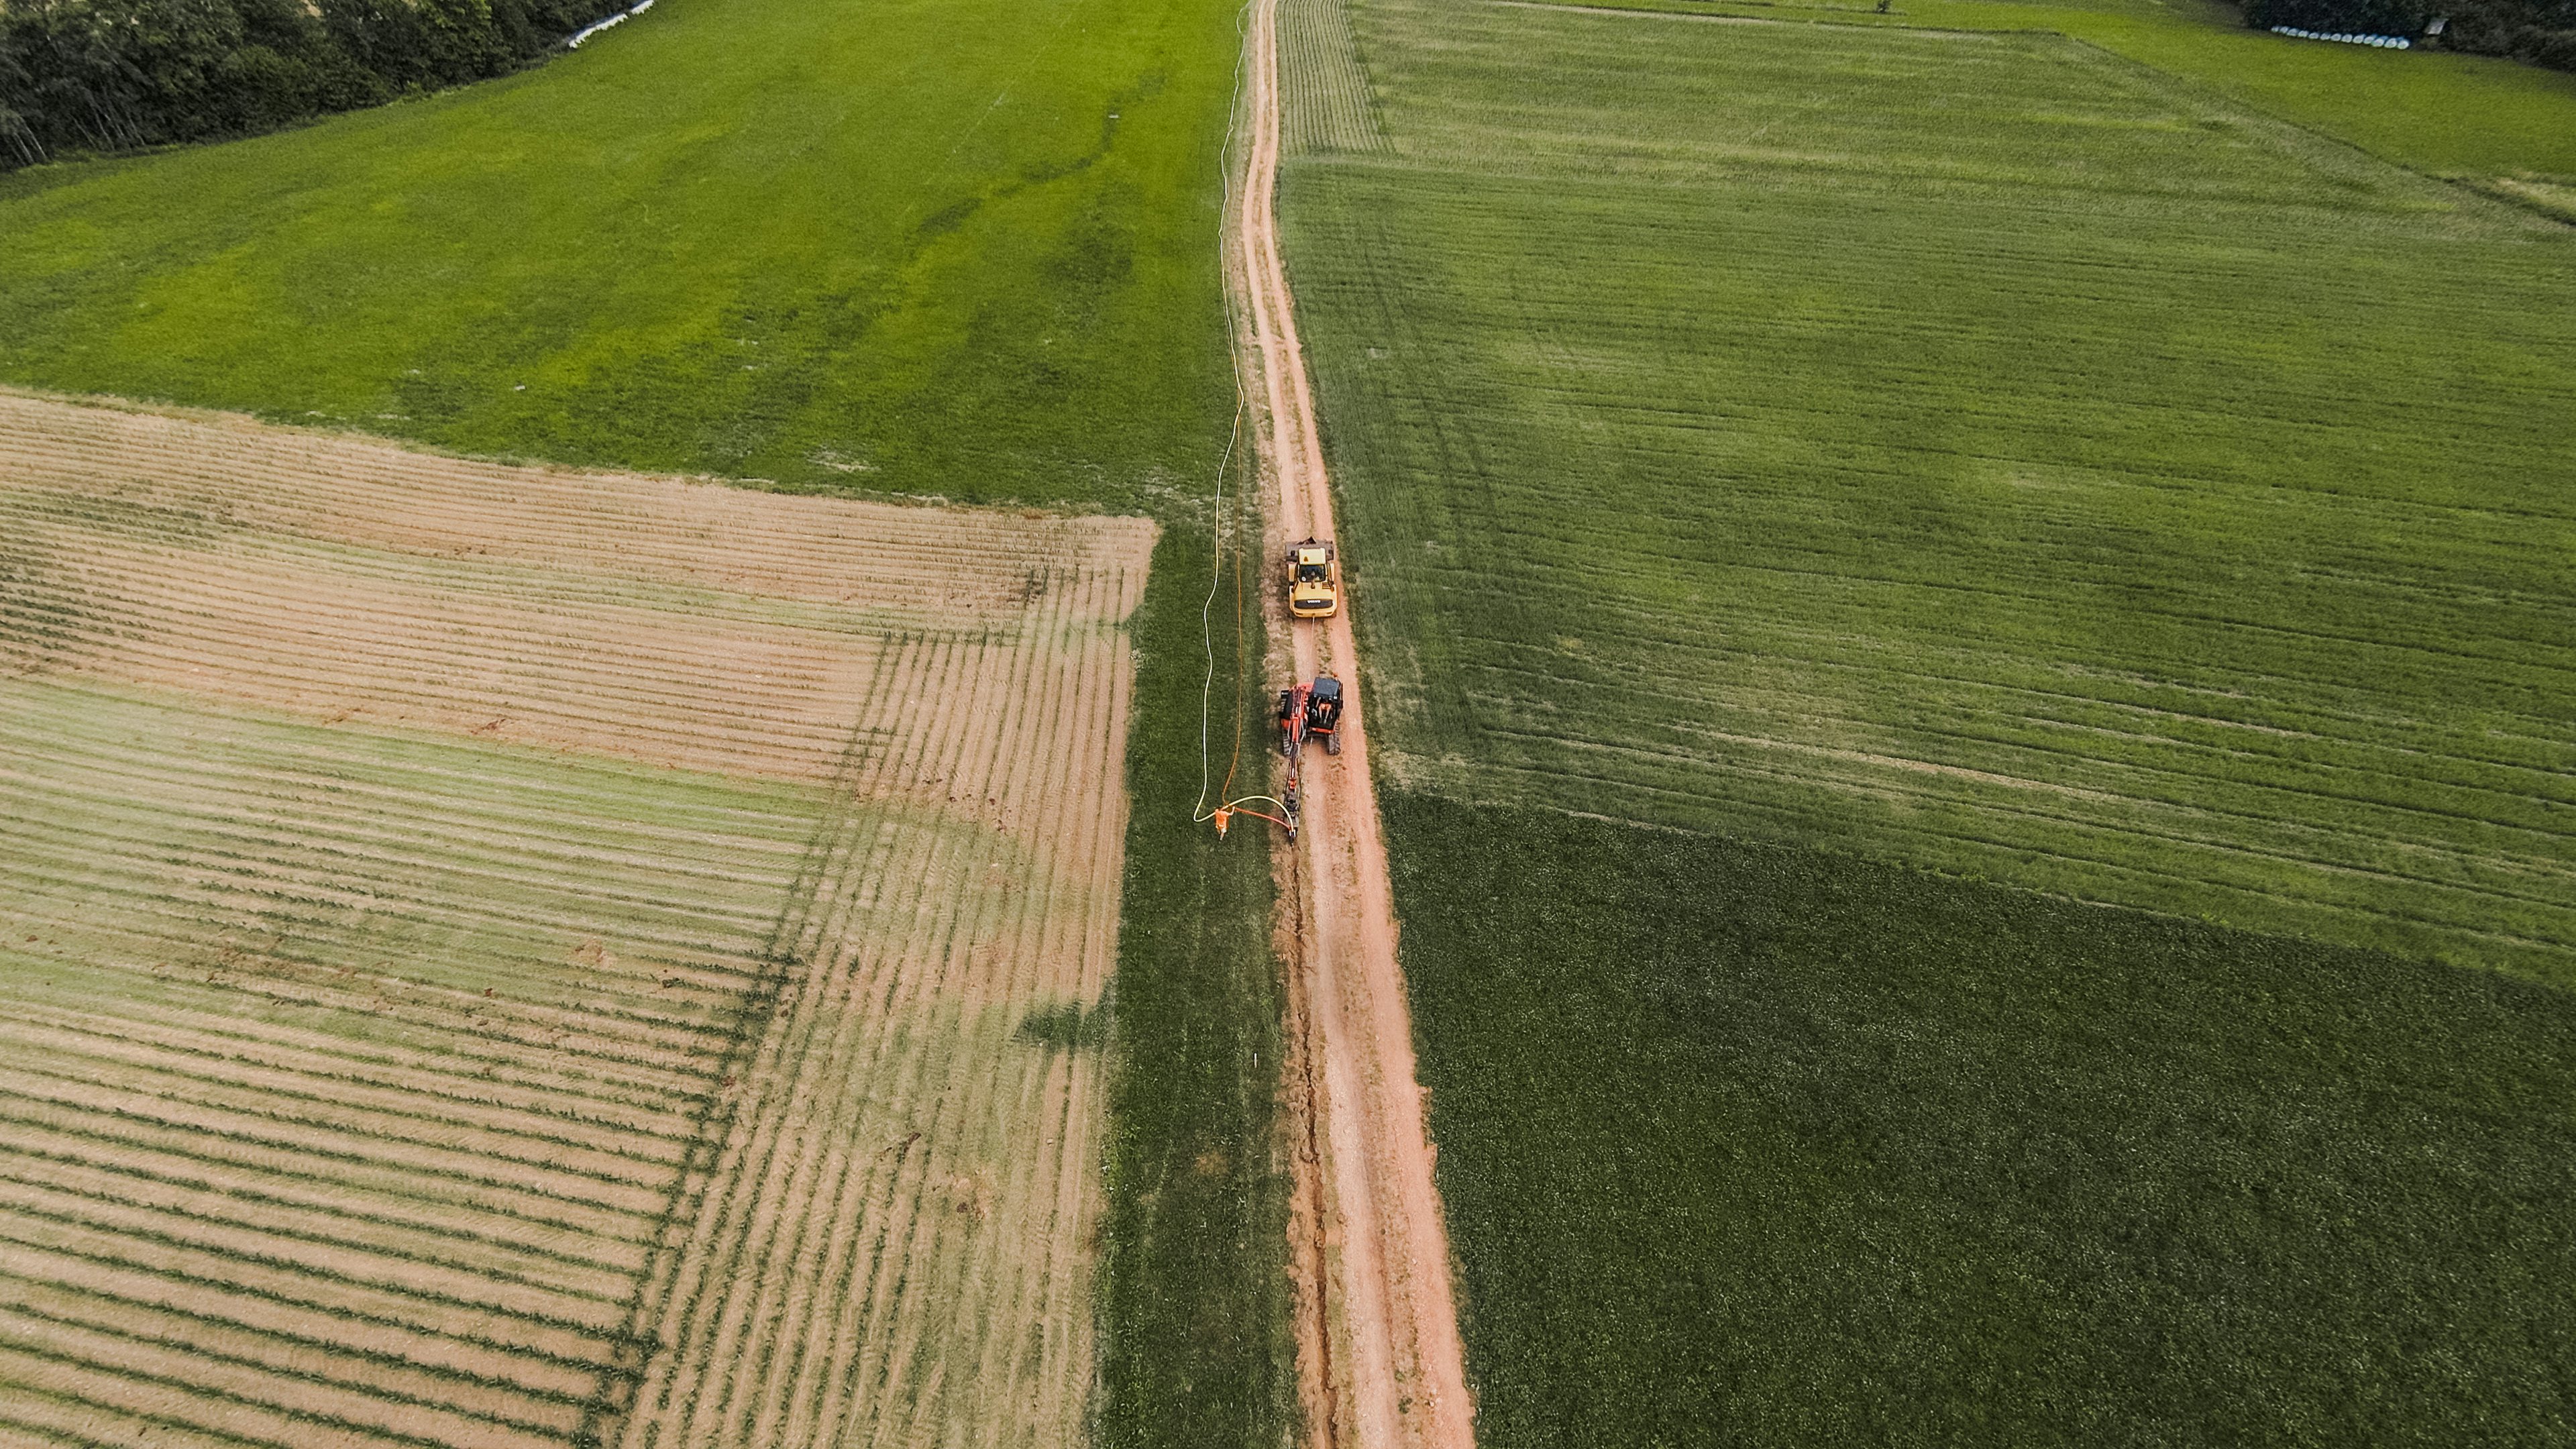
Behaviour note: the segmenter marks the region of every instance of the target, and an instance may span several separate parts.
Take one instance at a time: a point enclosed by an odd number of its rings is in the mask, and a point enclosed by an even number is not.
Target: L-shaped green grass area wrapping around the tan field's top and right
[[[1097,1408],[1193,1449],[1291,1392],[1267,869],[1188,825],[1234,59],[1229,5],[665,0],[510,80],[0,178],[8,382],[1164,521]]]

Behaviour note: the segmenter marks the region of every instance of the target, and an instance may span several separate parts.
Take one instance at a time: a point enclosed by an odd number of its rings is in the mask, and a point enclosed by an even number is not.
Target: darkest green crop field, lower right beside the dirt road
[[[2563,1444],[2576,995],[1386,794],[1479,1444]]]

